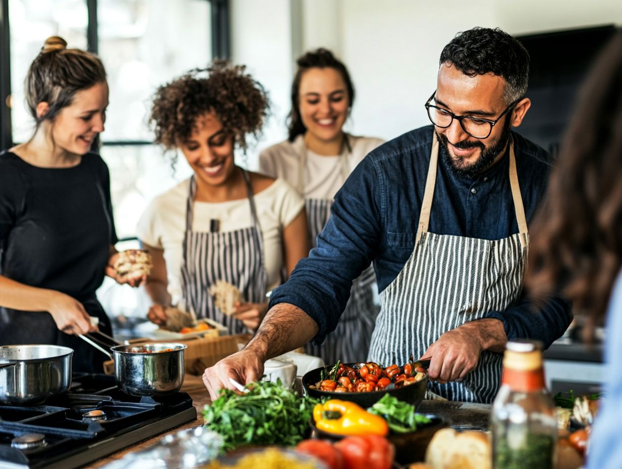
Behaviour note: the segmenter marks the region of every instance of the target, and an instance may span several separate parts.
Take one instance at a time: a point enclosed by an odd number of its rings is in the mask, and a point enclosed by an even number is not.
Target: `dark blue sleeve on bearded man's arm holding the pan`
[[[564,334],[572,321],[572,311],[570,301],[564,298],[534,303],[523,293],[517,305],[505,311],[490,311],[486,317],[503,323],[508,340],[539,340],[546,349]]]

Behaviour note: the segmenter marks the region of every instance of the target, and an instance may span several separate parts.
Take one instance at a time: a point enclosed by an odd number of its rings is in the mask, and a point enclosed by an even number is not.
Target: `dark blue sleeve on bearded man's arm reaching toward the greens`
[[[335,330],[352,281],[373,261],[382,224],[381,182],[378,168],[368,156],[335,196],[317,247],[299,261],[287,283],[271,294],[271,307],[290,303],[317,323],[315,343],[322,343],[326,334]]]

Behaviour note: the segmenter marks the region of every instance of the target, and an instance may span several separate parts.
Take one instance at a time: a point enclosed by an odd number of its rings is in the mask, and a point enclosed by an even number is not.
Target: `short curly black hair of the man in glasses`
[[[453,64],[465,75],[493,73],[507,85],[503,98],[509,104],[527,92],[529,52],[499,28],[474,27],[459,32],[440,53],[439,65]]]

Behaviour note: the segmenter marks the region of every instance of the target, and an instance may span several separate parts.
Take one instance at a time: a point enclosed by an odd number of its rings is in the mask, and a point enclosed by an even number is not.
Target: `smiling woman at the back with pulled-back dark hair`
[[[330,50],[307,52],[296,63],[289,137],[262,151],[259,169],[295,184],[305,199],[314,247],[330,217],[335,194],[364,156],[383,141],[343,131],[355,91],[345,65]],[[307,344],[307,353],[322,357],[326,363],[364,361],[378,315],[374,283],[370,266],[353,282],[337,329],[321,345]]]

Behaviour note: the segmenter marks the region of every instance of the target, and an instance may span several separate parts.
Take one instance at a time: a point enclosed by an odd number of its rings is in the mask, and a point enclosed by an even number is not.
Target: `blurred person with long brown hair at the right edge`
[[[606,316],[605,397],[590,436],[591,469],[622,467],[622,34],[582,88],[542,211],[534,220],[526,285],[560,288],[590,325]]]

